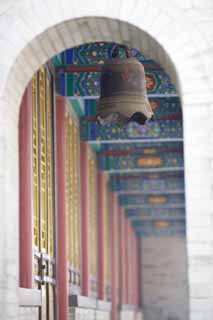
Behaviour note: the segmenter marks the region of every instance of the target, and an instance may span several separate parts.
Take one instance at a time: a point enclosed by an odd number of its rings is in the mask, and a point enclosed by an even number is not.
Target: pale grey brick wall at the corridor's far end
[[[142,238],[140,252],[144,320],[188,320],[186,240]]]

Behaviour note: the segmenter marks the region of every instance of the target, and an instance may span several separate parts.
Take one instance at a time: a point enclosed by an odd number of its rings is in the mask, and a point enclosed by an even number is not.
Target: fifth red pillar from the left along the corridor
[[[112,320],[118,320],[118,301],[117,301],[117,199],[114,192],[111,193],[111,298],[112,298]]]

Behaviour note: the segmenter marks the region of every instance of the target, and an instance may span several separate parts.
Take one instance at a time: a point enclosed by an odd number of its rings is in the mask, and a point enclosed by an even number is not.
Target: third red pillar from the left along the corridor
[[[81,214],[82,214],[82,294],[89,295],[89,239],[88,239],[88,144],[81,142]]]

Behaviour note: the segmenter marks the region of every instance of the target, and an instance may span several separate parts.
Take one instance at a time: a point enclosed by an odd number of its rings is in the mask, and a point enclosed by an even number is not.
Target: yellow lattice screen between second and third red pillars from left
[[[80,209],[79,209],[79,129],[66,115],[66,208],[70,282],[80,286]]]

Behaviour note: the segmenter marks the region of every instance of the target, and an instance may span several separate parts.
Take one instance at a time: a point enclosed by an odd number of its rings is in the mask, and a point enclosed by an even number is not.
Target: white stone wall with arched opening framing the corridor
[[[209,307],[212,304],[210,293],[213,291],[212,10],[211,0],[202,2],[188,0],[184,1],[184,4],[175,0],[157,2],[102,0],[90,3],[85,0],[1,2],[0,252],[3,259],[0,263],[0,309],[3,311],[0,317],[2,319],[7,320],[10,315],[15,317],[18,313],[17,164],[21,96],[39,65],[55,53],[67,47],[98,40],[132,44],[162,65],[179,92],[181,85],[185,132],[191,319],[195,316],[196,319],[212,318],[213,310]],[[81,18],[89,16],[96,19]],[[66,26],[70,26],[70,29]],[[69,33],[69,30],[72,31]],[[61,40],[61,37],[64,39]],[[198,245],[195,245],[196,243]],[[196,276],[198,271],[202,272],[202,279],[199,281]],[[202,297],[201,303],[199,297]],[[201,318],[197,316],[199,313]]]

